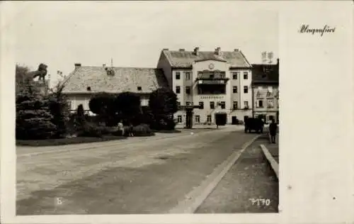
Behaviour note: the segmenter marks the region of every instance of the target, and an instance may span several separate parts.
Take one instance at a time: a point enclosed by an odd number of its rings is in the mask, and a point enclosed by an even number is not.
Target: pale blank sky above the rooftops
[[[48,65],[51,84],[83,66],[156,67],[163,48],[239,48],[251,63],[278,57],[278,13],[241,1],[12,2],[16,62]],[[274,60],[275,61],[275,60]]]

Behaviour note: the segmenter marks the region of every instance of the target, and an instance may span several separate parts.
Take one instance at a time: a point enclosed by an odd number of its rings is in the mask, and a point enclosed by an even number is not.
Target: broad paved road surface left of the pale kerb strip
[[[235,128],[19,147],[17,215],[168,213],[255,136]]]

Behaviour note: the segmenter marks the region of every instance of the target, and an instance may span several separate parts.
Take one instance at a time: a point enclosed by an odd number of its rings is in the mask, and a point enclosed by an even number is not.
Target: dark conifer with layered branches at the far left
[[[42,98],[28,83],[16,96],[16,139],[52,138],[56,125],[52,123],[50,101]]]

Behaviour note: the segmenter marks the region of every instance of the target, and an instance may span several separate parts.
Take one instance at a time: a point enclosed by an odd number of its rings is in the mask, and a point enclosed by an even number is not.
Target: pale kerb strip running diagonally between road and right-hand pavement
[[[217,184],[222,180],[222,178],[227,174],[232,165],[239,159],[242,152],[246,150],[257,138],[261,135],[256,135],[254,138],[242,145],[241,150],[233,152],[222,164],[219,164],[214,172],[202,181],[200,186],[196,187],[185,197],[185,200],[180,201],[178,205],[172,208],[168,213],[195,213],[197,209],[202,205],[207,196],[209,196],[215,189]]]

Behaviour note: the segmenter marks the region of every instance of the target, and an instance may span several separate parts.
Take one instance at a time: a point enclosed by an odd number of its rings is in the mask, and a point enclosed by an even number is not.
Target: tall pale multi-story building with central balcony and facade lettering
[[[157,68],[164,71],[181,106],[200,106],[193,111],[194,124],[215,123],[217,113],[227,123],[252,116],[252,69],[241,50],[164,49]],[[178,123],[185,123],[185,111],[174,116]]]

